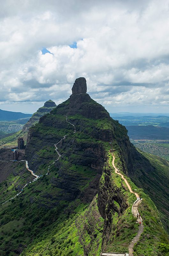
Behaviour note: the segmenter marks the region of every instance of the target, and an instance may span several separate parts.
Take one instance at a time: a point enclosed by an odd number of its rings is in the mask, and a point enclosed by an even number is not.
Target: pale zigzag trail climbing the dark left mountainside
[[[49,113],[49,114],[50,114],[50,115],[53,115],[53,114],[51,114],[51,113]],[[65,117],[66,117],[66,122],[69,123],[69,124],[71,124],[70,122],[68,122],[68,117],[67,117],[67,116],[65,116]],[[71,125],[73,125],[73,127],[74,127],[74,132],[71,132],[71,133],[69,133],[69,134],[67,134],[67,135],[64,135],[63,138],[62,138],[58,143],[54,144],[54,145],[55,145],[55,151],[56,151],[57,154],[58,154],[58,158],[57,158],[55,161],[53,161],[52,164],[48,165],[48,172],[47,172],[46,174],[44,174],[44,175],[48,175],[50,166],[53,165],[53,164],[55,164],[55,162],[58,161],[59,158],[61,157],[61,154],[59,154],[59,152],[57,151],[57,149],[58,149],[58,148],[57,148],[57,145],[58,145],[62,140],[66,139],[67,136],[69,136],[70,134],[73,134],[73,133],[76,132],[75,125],[74,125],[74,124],[71,124]],[[13,160],[12,160],[12,161],[13,161]],[[8,162],[8,161],[5,161],[5,162]],[[10,162],[10,161],[9,161],[9,162]],[[29,169],[29,166],[28,166],[28,161],[27,161],[27,160],[21,160],[21,161],[18,161],[18,162],[26,162],[26,169],[27,169],[29,172],[31,172],[31,174],[35,177],[35,179],[34,179],[33,181],[30,181],[29,183],[32,183],[32,182],[38,180],[40,177],[43,177],[43,176],[44,176],[44,175],[38,176],[38,175],[36,175],[32,170],[30,170],[30,169]],[[20,195],[20,194],[23,192],[24,188],[26,188],[26,186],[27,186],[29,183],[26,183],[25,186],[21,189],[21,191],[20,191],[18,194],[16,194],[14,197],[11,197],[10,199],[8,199],[7,201],[5,201],[4,203],[0,204],[0,206],[3,205],[3,204],[5,204],[5,203],[7,203],[7,202],[9,202],[11,199],[14,199],[16,196]]]

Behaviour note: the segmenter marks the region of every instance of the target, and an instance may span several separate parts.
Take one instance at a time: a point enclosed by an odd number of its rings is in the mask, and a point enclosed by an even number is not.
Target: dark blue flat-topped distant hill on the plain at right
[[[169,128],[153,125],[126,126],[130,139],[133,140],[169,140]]]

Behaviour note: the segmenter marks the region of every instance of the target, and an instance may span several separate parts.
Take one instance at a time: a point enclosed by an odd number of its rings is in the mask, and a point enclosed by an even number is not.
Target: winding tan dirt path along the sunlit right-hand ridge
[[[139,229],[138,229],[137,235],[132,239],[132,241],[130,242],[129,247],[128,247],[128,249],[129,249],[129,256],[133,256],[133,252],[134,252],[133,247],[139,241],[140,236],[143,233],[143,228],[144,228],[144,226],[143,226],[143,219],[141,218],[141,216],[140,216],[140,214],[138,212],[138,205],[141,203],[141,199],[140,199],[138,193],[132,191],[128,181],[126,180],[126,178],[124,178],[124,176],[115,167],[115,164],[114,164],[115,157],[114,157],[113,154],[112,154],[112,156],[113,156],[112,165],[113,165],[113,167],[115,169],[115,173],[117,173],[118,175],[121,176],[121,178],[124,180],[124,182],[126,183],[127,187],[129,188],[130,193],[135,194],[135,196],[137,198],[137,200],[132,205],[132,213],[133,213],[134,217],[136,218],[137,223],[140,223],[140,225],[139,225]]]

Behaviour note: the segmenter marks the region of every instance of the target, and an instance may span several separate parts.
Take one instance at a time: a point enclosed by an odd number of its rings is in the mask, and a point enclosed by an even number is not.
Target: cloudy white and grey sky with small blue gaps
[[[85,77],[110,113],[169,113],[169,0],[6,0],[0,108],[33,113]]]

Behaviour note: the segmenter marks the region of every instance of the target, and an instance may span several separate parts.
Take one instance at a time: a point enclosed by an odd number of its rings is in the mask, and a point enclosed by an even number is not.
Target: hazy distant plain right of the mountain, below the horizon
[[[124,112],[110,115],[126,126],[136,148],[169,161],[169,114]]]

